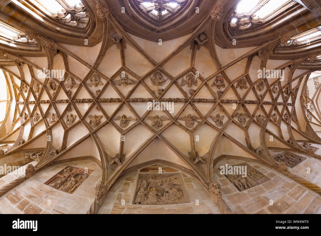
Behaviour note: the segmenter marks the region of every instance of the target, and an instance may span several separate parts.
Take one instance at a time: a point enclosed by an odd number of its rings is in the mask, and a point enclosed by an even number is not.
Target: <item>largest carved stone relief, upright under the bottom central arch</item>
[[[190,202],[180,173],[140,173],[133,204],[165,205]]]

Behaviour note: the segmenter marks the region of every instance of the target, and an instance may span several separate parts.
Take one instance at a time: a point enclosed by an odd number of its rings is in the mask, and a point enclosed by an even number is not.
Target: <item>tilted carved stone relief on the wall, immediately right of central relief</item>
[[[246,174],[240,173],[241,169],[239,167],[243,167],[242,170],[246,172]],[[227,169],[227,170],[226,170]],[[236,174],[235,170],[238,170],[239,174]],[[222,170],[221,168],[218,168],[218,170]],[[247,163],[240,163],[234,166],[228,166],[227,168],[224,167],[224,175],[225,177],[230,180],[230,182],[239,190],[239,191],[244,191],[249,188],[253,188],[254,186],[263,184],[269,180],[267,176],[262,174],[260,171],[254,169],[252,166],[248,165]]]

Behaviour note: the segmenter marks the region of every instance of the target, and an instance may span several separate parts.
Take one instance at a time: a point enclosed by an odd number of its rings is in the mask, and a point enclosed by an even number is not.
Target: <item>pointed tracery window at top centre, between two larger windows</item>
[[[140,8],[155,20],[161,21],[177,12],[187,0],[135,0]]]

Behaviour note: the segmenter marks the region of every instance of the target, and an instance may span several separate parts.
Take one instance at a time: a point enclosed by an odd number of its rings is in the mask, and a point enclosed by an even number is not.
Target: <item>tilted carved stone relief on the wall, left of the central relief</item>
[[[91,172],[92,170],[67,166],[45,184],[72,194],[87,179]]]

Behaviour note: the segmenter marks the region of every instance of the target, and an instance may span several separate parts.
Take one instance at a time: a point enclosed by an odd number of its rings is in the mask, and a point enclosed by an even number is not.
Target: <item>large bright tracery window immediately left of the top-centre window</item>
[[[89,22],[89,14],[80,0],[25,0],[43,13],[65,24],[85,28]],[[17,0],[13,3],[23,7]],[[24,8],[24,7],[23,7]],[[27,9],[25,9],[27,10]],[[29,11],[30,12],[30,11]],[[32,14],[39,18],[37,14]],[[39,14],[41,15],[41,14]]]

